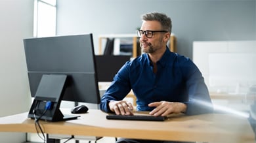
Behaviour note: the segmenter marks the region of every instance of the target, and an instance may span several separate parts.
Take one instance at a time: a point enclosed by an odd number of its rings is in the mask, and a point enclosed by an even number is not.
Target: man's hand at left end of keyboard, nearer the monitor
[[[131,112],[133,110],[133,104],[127,103],[126,101],[110,101],[108,106],[117,115],[133,115],[133,112]]]

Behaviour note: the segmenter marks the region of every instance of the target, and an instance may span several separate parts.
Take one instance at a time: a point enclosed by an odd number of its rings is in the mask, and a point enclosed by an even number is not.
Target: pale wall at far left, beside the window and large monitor
[[[33,35],[33,0],[0,4],[0,117],[26,112],[31,98],[22,39]],[[0,133],[1,142],[22,142],[24,133]]]

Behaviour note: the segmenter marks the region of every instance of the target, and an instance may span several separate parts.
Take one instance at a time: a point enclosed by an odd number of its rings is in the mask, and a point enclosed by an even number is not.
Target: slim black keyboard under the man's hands
[[[123,119],[123,120],[140,120],[140,121],[164,121],[164,116],[150,116],[150,115],[107,115],[107,119]]]

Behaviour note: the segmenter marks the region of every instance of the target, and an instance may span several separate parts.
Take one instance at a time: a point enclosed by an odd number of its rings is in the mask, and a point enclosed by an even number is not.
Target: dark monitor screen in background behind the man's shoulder
[[[112,82],[119,69],[129,61],[131,56],[96,56],[96,70],[98,82]]]

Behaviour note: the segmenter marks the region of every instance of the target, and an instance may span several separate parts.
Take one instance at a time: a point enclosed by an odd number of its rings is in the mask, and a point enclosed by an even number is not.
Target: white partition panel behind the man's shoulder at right
[[[255,58],[256,40],[193,42],[193,61],[210,92],[246,93],[256,84]]]

